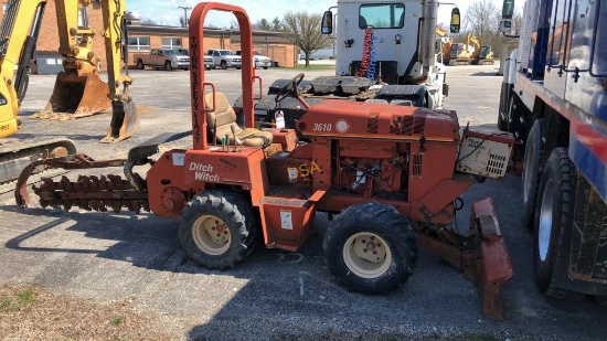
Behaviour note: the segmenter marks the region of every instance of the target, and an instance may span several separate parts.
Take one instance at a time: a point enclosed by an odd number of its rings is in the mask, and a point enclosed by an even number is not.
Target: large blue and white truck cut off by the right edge
[[[500,28],[509,35],[514,1]],[[607,1],[528,0],[507,60],[498,127],[521,142],[535,280],[552,297],[607,303]]]

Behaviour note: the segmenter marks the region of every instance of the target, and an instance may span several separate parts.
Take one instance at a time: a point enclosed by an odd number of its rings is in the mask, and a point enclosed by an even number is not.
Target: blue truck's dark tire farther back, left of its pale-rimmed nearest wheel
[[[522,173],[523,194],[523,222],[529,228],[533,228],[535,206],[537,202],[537,188],[542,173],[540,162],[544,153],[545,125],[543,118],[537,118],[531,126],[525,143]]]

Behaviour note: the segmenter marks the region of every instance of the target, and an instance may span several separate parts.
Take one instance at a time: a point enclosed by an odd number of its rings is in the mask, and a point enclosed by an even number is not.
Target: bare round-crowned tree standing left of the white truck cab
[[[322,14],[288,12],[283,19],[283,35],[296,44],[306,55],[306,67],[310,66],[310,54],[331,45],[331,39],[320,33]]]

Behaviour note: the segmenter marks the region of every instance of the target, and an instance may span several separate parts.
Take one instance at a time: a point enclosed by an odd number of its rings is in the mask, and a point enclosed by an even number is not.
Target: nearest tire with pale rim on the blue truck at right
[[[550,297],[579,300],[584,294],[558,288],[554,285],[554,267],[558,248],[564,245],[564,234],[574,207],[574,164],[566,148],[555,148],[544,168],[537,193],[537,212],[533,233],[533,260],[535,281],[540,290]]]

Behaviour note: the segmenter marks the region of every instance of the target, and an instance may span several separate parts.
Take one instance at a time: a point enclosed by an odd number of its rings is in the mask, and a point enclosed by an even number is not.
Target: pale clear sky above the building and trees
[[[445,0],[440,2],[456,3],[465,14],[468,6],[475,1],[481,0]],[[501,9],[503,0],[490,0],[496,8]],[[198,0],[127,0],[127,11],[139,14],[141,18],[151,19],[159,24],[179,26],[179,18],[183,15],[184,10],[179,7],[193,8]],[[322,13],[331,6],[337,4],[337,0],[220,0],[219,2],[231,3],[242,7],[248,14],[251,22],[255,23],[262,19],[269,22],[276,17],[283,19],[283,15],[289,11],[308,13]],[[522,7],[523,0],[515,1],[517,8]],[[438,22],[448,22],[449,12],[452,6],[439,6]],[[188,18],[191,9],[188,10]],[[227,28],[235,21],[231,13],[210,12],[206,17],[206,24],[213,24],[219,28]]]

